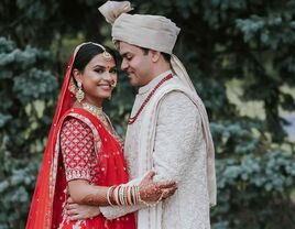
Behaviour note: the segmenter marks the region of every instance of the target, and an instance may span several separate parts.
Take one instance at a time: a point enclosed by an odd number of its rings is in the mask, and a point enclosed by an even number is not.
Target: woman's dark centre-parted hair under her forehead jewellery
[[[117,65],[117,59],[116,59],[116,54],[114,52],[105,46],[106,51],[108,53],[111,54],[111,56],[113,57],[114,59],[114,64]],[[77,52],[76,54],[76,57],[75,57],[75,61],[74,61],[74,64],[73,64],[73,69],[74,68],[77,68],[79,72],[83,72],[84,68],[86,67],[86,65],[98,54],[101,54],[103,53],[103,50],[96,45],[96,44],[92,44],[92,43],[86,43],[85,45],[83,45],[79,51]]]

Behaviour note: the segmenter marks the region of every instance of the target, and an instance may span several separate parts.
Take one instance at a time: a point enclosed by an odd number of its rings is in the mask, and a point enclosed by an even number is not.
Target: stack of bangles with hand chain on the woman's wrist
[[[163,197],[163,193],[160,198],[155,203],[146,203],[141,199],[140,196],[140,187],[138,185],[134,186],[111,186],[107,193],[107,199],[110,206],[122,206],[122,205],[136,205],[139,203],[143,203],[149,207],[153,207],[157,205]]]

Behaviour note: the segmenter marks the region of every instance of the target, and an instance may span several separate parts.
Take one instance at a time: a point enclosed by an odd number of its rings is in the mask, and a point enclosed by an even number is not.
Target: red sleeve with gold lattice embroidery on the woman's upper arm
[[[76,118],[65,120],[61,130],[61,149],[67,182],[91,181],[91,163],[95,161],[91,129]]]

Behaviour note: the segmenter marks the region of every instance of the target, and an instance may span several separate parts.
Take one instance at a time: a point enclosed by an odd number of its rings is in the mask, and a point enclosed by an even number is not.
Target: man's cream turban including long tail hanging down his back
[[[204,117],[204,134],[207,144],[207,178],[210,204],[216,205],[215,150],[209,130],[208,116],[203,101],[182,62],[173,55],[177,35],[181,31],[174,22],[161,15],[129,14],[129,1],[107,1],[99,8],[107,22],[112,24],[112,41],[122,41],[140,47],[171,54],[171,66],[176,76],[195,95],[200,115]]]

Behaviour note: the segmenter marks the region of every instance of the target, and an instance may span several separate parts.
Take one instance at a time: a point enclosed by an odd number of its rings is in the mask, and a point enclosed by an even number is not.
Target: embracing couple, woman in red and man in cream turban
[[[124,148],[102,110],[117,85],[114,54],[83,43],[66,69],[26,228],[210,228],[214,143],[205,106],[173,55],[179,29],[129,14],[127,1],[99,10],[139,87]]]

